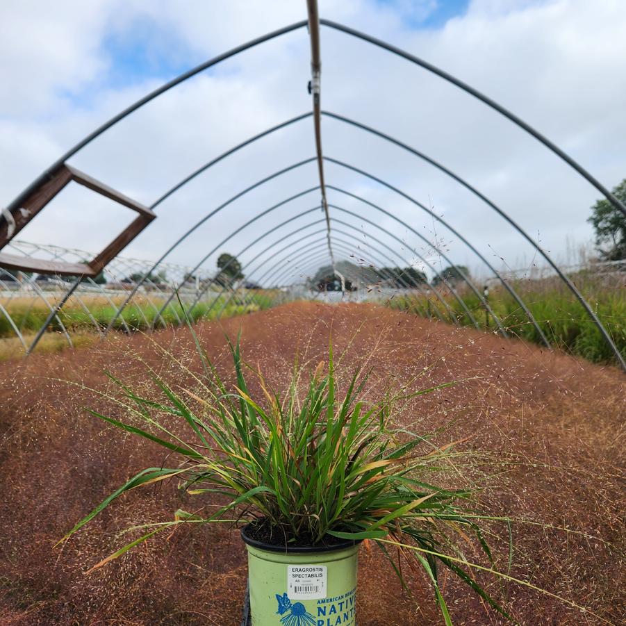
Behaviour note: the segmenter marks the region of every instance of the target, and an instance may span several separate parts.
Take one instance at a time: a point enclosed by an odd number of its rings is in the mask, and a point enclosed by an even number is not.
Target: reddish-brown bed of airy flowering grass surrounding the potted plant
[[[620,622],[626,407],[616,368],[372,304],[298,302],[221,324],[201,322],[197,329],[224,372],[224,331],[241,330],[243,356],[276,388],[288,381],[296,354],[313,366],[324,360],[330,337],[343,355],[338,372],[347,378],[357,364],[371,368],[374,395],[390,377],[404,384],[421,373],[411,383],[416,389],[458,381],[411,403],[397,420],[424,431],[444,428],[442,445],[465,440],[459,448],[471,454],[460,470],[484,488],[481,505],[518,520],[511,554],[506,529],[492,528],[497,568],[595,616],[523,586],[477,578],[524,625]],[[141,384],[145,368],[137,356],[164,377],[177,375],[159,346],[199,370],[186,329],[113,336],[79,350],[0,363],[1,623],[239,624],[245,550],[228,526],[182,529],[84,574],[126,543],[122,529],[163,520],[195,502],[186,502],[173,484],[129,493],[93,520],[89,532],[52,548],[115,487],[166,462],[156,445],[125,437],[81,408],[115,414],[115,406],[57,379],[101,391],[113,385],[102,373],[108,369]],[[440,623],[421,577],[411,584],[411,597],[374,546],[362,547],[360,558],[360,626]],[[442,587],[455,624],[500,623],[453,579]]]

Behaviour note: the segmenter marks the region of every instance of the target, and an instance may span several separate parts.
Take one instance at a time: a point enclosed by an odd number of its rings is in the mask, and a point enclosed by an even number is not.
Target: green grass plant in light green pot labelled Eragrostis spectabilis
[[[442,568],[509,617],[461,566],[466,561],[459,546],[472,535],[491,561],[479,516],[469,508],[470,491],[438,487],[428,478],[442,466],[451,445],[438,447],[429,435],[393,425],[398,402],[433,389],[366,400],[368,374],[357,369],[340,387],[330,349],[315,371],[294,368],[288,390],[277,393],[261,372],[242,363],[239,340],[229,342],[236,378],[229,385],[194,338],[204,374],[195,375],[193,391],[168,386],[151,371],[160,399],[114,379],[126,418],[90,410],[110,425],[162,445],[179,463],[142,470],[62,541],[126,491],[178,479],[186,493],[217,496],[221,502],[225,497],[226,503],[206,516],[179,509],[174,519],[144,527],[139,538],[95,567],[164,529],[223,521],[236,513],[233,521],[245,522],[241,534],[249,557],[254,626],[354,626],[362,541],[381,548],[403,584],[391,547],[409,563],[410,572],[421,568],[444,623],[452,622],[438,582]],[[247,383],[248,369],[256,393]],[[181,425],[190,437],[181,436]]]

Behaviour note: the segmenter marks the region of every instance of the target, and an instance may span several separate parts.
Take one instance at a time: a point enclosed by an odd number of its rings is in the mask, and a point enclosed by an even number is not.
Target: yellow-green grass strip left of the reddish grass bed
[[[215,320],[218,317],[229,318],[242,313],[263,311],[274,304],[277,293],[271,290],[247,290],[237,293],[233,299],[229,298],[230,295],[215,295],[214,300],[195,304],[187,314],[192,321],[197,322],[201,319]],[[80,301],[77,298],[69,299],[58,314],[58,319],[53,319],[49,325],[41,345],[38,345],[38,351],[56,352],[67,345],[59,320],[70,333],[74,345],[91,343],[97,337],[95,324],[99,328],[106,328],[115,316],[117,306],[123,301],[124,297],[119,295],[112,297],[110,301],[106,297],[92,295],[81,295]],[[55,305],[57,299],[49,297],[49,302]],[[146,331],[153,326],[158,329],[180,324],[184,315],[176,300],[170,302],[160,313],[160,319],[157,317],[163,302],[154,297],[151,301],[142,296],[135,297],[115,320],[113,329],[122,332]],[[0,301],[0,304],[3,304],[27,344],[30,344],[50,312],[43,300],[36,297],[13,297],[5,302]],[[6,315],[0,314],[0,360],[23,352],[24,346],[17,338],[12,324]]]

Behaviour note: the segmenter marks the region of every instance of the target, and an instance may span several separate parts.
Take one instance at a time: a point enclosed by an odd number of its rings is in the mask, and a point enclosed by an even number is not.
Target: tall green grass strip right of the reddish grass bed
[[[610,333],[621,354],[626,357],[625,279],[598,277],[585,272],[579,272],[573,279]],[[613,352],[604,341],[598,327],[560,281],[524,280],[511,282],[511,286],[523,299],[552,345],[595,363],[615,361]],[[463,291],[459,288],[457,291],[481,327],[494,329],[495,322],[491,315],[486,313],[479,298],[469,290]],[[444,295],[444,298],[462,325],[473,326],[472,320],[451,293]],[[434,296],[427,300],[419,293],[412,293],[387,299],[386,304],[390,308],[433,318],[436,318],[435,308],[438,307],[441,317],[450,318],[450,313]],[[542,343],[538,331],[529,322],[523,309],[504,288],[491,288],[488,304],[500,318],[502,326],[512,335],[532,343]]]

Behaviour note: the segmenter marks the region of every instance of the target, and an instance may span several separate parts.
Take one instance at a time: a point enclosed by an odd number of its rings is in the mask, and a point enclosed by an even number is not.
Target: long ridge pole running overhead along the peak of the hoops
[[[328,238],[328,251],[331,255],[331,265],[335,272],[335,257],[331,245],[331,220],[328,213],[328,201],[326,199],[326,185],[324,184],[324,159],[322,157],[322,58],[320,55],[320,14],[318,13],[317,0],[306,0],[308,13],[308,36],[311,40],[311,82],[309,92],[313,96],[313,126],[315,128],[315,152],[318,155],[318,174],[320,176],[320,189],[322,192],[322,211],[326,217]]]

